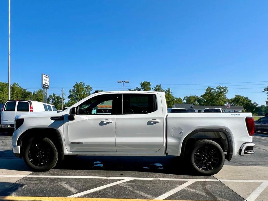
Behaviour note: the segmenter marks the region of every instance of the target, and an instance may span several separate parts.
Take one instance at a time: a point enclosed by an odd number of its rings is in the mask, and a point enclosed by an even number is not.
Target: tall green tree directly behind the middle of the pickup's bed
[[[207,87],[205,93],[200,96],[200,105],[225,105],[228,102],[227,92],[228,87]]]

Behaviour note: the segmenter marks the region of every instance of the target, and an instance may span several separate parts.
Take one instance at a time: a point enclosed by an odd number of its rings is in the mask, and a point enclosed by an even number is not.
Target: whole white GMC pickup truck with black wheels
[[[253,154],[253,134],[251,113],[168,114],[163,92],[100,92],[61,112],[16,116],[12,149],[38,171],[65,155],[172,155],[212,175],[225,159]]]

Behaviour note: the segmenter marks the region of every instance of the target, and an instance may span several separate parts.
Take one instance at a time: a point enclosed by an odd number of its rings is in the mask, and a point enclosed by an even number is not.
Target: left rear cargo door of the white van
[[[17,101],[7,101],[4,110],[1,113],[1,124],[14,125],[14,119],[16,116],[16,103]]]

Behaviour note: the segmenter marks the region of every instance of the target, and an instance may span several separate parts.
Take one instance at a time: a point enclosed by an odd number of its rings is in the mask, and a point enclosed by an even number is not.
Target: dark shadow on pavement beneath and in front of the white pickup
[[[12,150],[0,151],[0,169],[32,171]],[[171,156],[65,156],[53,170],[137,171],[198,176],[178,157]],[[119,173],[120,174],[120,173]]]

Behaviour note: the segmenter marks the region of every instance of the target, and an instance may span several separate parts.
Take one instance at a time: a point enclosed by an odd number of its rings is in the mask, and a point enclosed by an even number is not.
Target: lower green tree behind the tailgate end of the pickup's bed
[[[240,96],[237,94],[234,96],[234,98],[231,98],[229,100],[229,103],[231,103],[231,105],[243,106],[244,107],[243,112],[251,112],[252,114],[257,113],[258,103],[252,102],[252,100],[250,100],[248,97]]]

